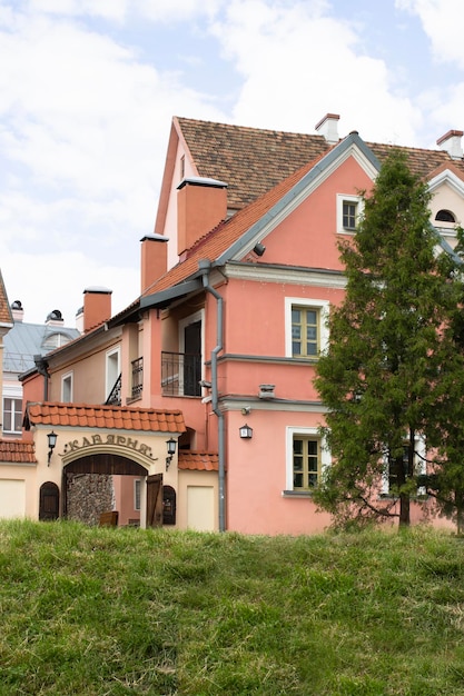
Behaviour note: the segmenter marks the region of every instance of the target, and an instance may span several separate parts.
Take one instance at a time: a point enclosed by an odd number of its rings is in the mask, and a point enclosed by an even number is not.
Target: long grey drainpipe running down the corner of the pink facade
[[[218,474],[219,474],[219,531],[226,530],[226,476],[225,476],[225,428],[224,428],[224,414],[219,408],[218,388],[217,388],[217,356],[223,350],[223,298],[209,285],[209,271],[211,269],[211,262],[208,259],[203,259],[198,262],[198,268],[203,274],[203,287],[207,292],[210,292],[217,301],[217,319],[216,319],[216,346],[211,350],[211,407],[213,412],[218,418]]]

